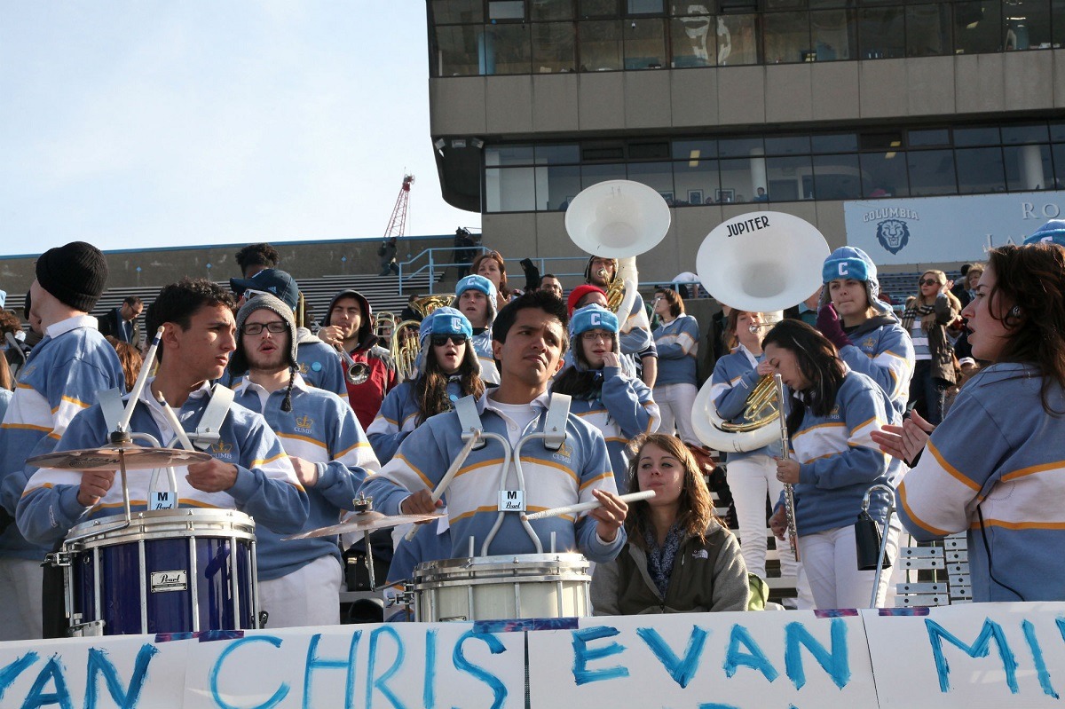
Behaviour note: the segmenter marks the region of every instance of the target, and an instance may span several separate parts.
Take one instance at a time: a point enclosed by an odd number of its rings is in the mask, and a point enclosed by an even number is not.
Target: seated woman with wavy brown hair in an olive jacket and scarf
[[[695,459],[681,440],[651,433],[633,442],[628,541],[592,575],[595,615],[747,610],[750,592],[739,543],[714,514]]]

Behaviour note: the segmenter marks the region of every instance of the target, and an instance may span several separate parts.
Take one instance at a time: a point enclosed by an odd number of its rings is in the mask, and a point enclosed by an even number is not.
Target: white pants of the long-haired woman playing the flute
[[[801,529],[801,528],[800,528]],[[835,527],[799,538],[799,555],[814,592],[818,610],[831,608],[868,608],[872,581],[876,572],[857,570],[854,527]],[[899,556],[899,528],[891,525],[887,533],[887,558],[892,566]],[[891,570],[880,576],[876,607],[884,605]]]

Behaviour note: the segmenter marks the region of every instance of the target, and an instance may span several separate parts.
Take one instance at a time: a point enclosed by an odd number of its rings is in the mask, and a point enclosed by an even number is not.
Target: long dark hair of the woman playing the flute
[[[793,434],[802,425],[806,409],[817,416],[828,416],[832,412],[846,370],[836,346],[802,320],[787,318],[774,325],[761,341],[763,351],[768,345],[792,352],[799,370],[809,382],[808,390],[791,392],[788,432]]]

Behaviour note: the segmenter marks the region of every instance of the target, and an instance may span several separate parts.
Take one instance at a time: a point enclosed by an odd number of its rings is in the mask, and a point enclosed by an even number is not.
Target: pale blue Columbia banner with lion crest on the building
[[[1065,215],[1065,192],[875,199],[843,203],[847,243],[874,263],[982,261]]]

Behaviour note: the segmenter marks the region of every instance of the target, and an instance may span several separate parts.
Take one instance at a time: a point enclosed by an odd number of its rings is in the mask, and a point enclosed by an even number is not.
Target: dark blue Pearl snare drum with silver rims
[[[114,515],[80,524],[67,539],[71,634],[258,627],[256,524],[243,512],[147,511],[129,526]]]

